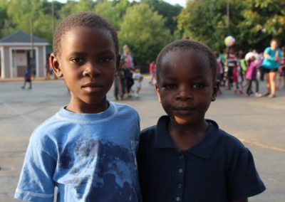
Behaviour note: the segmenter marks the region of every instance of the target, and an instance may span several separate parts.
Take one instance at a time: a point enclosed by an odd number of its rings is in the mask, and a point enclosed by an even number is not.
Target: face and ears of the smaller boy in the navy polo
[[[209,62],[190,50],[173,50],[162,58],[159,83],[155,86],[162,107],[177,124],[199,124],[215,100]]]

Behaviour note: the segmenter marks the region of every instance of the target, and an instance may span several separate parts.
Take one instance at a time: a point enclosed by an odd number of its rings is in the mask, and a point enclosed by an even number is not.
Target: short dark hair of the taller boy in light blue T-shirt
[[[102,28],[108,31],[115,44],[115,53],[119,54],[118,36],[115,28],[102,16],[90,11],[79,12],[67,16],[56,27],[53,34],[53,53],[56,55],[61,54],[61,39],[63,35],[76,26],[83,26],[87,28]]]

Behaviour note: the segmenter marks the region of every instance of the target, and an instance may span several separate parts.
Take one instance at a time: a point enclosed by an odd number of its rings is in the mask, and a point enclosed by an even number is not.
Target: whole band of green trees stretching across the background
[[[271,38],[284,46],[284,8],[284,0],[188,0],[185,8],[162,0],[0,0],[0,38],[19,30],[31,33],[32,22],[33,34],[52,43],[53,26],[64,17],[95,11],[115,26],[120,46],[127,43],[143,64],[184,35],[214,50],[225,48],[228,35],[236,38],[237,49],[262,50]]]

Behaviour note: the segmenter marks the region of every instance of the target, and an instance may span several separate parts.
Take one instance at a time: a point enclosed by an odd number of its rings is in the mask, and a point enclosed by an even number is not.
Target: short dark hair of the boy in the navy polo
[[[157,76],[157,83],[160,80],[160,69],[162,68],[162,59],[163,57],[171,52],[171,51],[175,51],[175,50],[194,50],[195,53],[202,53],[205,58],[207,58],[208,63],[209,63],[209,68],[212,72],[212,76],[213,76],[213,80],[216,79],[216,74],[217,74],[217,58],[214,55],[213,50],[211,50],[211,48],[209,48],[208,46],[204,45],[203,43],[199,43],[197,41],[191,41],[191,40],[178,40],[178,41],[174,41],[170,44],[168,44],[167,46],[165,46],[165,48],[162,48],[162,50],[160,51],[160,53],[157,55],[157,59],[156,59],[156,76]]]

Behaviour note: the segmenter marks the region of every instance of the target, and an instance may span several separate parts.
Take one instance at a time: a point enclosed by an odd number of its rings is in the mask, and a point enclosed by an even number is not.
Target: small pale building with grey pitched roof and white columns
[[[27,65],[30,65],[35,77],[45,75],[46,46],[48,41],[31,37],[24,31],[16,31],[0,40],[1,78],[23,77]]]

